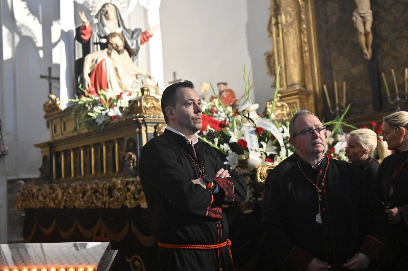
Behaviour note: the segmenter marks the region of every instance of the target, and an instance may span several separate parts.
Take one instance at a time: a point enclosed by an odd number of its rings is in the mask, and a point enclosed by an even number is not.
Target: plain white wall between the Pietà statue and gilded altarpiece
[[[264,58],[272,43],[266,31],[268,7],[267,0],[162,1],[165,87],[176,71],[177,79],[192,81],[197,90],[206,81],[218,91],[217,82],[226,81],[239,98],[245,92],[246,64],[252,101],[263,108],[273,93]]]

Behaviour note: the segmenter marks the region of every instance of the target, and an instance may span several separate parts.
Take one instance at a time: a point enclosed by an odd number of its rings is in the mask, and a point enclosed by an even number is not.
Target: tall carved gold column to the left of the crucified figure
[[[280,101],[290,109],[320,111],[320,72],[313,0],[270,0],[268,32],[273,50],[266,53],[268,73],[280,66]],[[275,84],[273,84],[275,85]]]

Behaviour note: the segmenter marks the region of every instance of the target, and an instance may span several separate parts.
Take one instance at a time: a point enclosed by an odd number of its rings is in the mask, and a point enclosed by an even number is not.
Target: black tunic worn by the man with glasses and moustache
[[[326,166],[329,166],[326,173]],[[377,258],[386,227],[384,208],[355,164],[324,157],[322,169],[299,159],[279,173],[265,203],[262,227],[268,250],[284,270],[304,270],[313,258],[338,266],[357,252]]]

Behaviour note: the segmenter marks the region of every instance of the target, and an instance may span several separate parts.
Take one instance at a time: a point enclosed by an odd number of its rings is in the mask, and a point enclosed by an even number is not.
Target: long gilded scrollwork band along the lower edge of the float
[[[26,186],[18,181],[20,188],[16,197],[16,210],[24,209],[62,209],[66,208],[113,208],[123,206],[134,208],[140,205],[147,208],[146,199],[139,177],[111,181],[94,181],[91,184],[74,182],[70,184],[50,184]]]

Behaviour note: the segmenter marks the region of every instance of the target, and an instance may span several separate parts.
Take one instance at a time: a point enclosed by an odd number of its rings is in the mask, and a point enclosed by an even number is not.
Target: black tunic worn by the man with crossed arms
[[[186,139],[166,129],[142,148],[140,180],[149,210],[153,237],[166,244],[215,245],[228,237],[228,223],[222,204],[246,199],[245,181],[232,172],[213,147],[201,140],[193,147]],[[191,157],[193,157],[194,161]],[[214,178],[220,187],[217,194],[193,184],[204,174],[215,176],[220,168],[231,177]],[[159,247],[158,270],[232,270],[228,248],[168,249]]]

